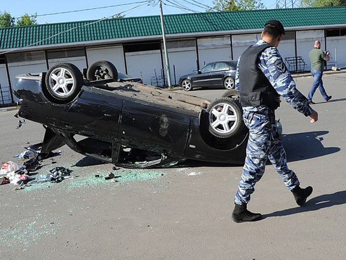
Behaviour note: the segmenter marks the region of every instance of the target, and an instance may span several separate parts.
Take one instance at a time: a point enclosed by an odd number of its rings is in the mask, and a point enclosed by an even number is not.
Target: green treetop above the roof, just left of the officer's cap
[[[213,5],[214,9],[220,11],[243,11],[265,8],[261,0],[213,0]]]

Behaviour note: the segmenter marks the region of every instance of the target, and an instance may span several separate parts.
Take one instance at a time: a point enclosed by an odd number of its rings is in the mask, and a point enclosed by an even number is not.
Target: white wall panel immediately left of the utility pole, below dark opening
[[[133,77],[141,77],[144,84],[151,85],[151,78],[161,77],[162,62],[160,50],[125,53],[127,73]],[[155,83],[156,85],[156,83]]]

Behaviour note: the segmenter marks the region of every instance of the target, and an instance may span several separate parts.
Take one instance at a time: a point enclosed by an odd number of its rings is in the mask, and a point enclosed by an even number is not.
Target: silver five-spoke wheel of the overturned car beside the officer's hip
[[[229,97],[220,97],[207,107],[209,113],[209,131],[220,138],[236,135],[244,127],[242,107]]]

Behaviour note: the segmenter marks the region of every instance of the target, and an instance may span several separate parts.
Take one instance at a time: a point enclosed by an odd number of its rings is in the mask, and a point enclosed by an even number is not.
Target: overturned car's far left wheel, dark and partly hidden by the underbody
[[[86,71],[86,78],[90,81],[113,79],[118,80],[118,71],[113,63],[106,60],[93,62]]]

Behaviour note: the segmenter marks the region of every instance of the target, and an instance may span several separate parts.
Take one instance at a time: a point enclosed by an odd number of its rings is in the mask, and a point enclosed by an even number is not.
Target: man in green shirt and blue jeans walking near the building
[[[321,43],[317,40],[313,45],[313,49],[309,52],[309,58],[311,63],[311,75],[313,77],[313,84],[310,88],[308,95],[309,104],[315,104],[315,102],[312,102],[312,96],[317,88],[319,88],[321,95],[325,99],[325,101],[329,101],[329,99],[331,99],[331,96],[327,95],[326,90],[323,87],[322,81],[325,61],[329,61],[330,53],[329,51],[325,53],[320,48]]]

